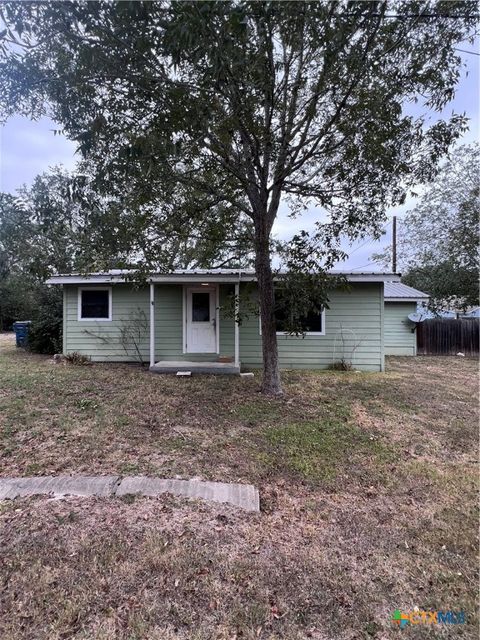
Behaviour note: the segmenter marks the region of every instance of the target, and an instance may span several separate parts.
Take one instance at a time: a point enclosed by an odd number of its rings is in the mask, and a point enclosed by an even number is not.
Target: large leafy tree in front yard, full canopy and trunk
[[[465,126],[455,115],[428,126],[405,105],[421,96],[439,110],[452,97],[475,2],[4,2],[2,11],[4,116],[62,123],[95,189],[138,212],[134,230],[148,230],[141,209],[160,202],[169,231],[187,236],[199,193],[202,220],[211,199],[251,221],[269,393],[281,392],[271,233],[282,198],[292,215],[311,204],[329,215],[294,239],[290,268],[301,273],[312,255],[330,264],[340,234],[378,233],[386,209],[432,176]]]

